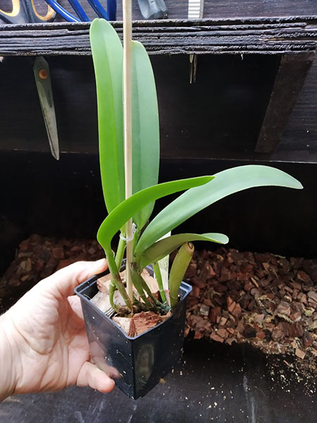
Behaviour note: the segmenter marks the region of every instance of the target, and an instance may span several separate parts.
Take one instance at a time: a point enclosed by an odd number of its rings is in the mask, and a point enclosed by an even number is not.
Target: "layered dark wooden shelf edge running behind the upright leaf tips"
[[[314,51],[317,17],[135,21],[150,54],[284,54]],[[122,23],[113,23],[122,36]],[[0,55],[90,55],[89,23],[0,26]]]

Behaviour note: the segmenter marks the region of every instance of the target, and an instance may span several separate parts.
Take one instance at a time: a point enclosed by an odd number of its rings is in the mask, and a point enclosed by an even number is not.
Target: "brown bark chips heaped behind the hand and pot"
[[[57,269],[103,256],[95,240],[30,236],[0,280],[0,313]],[[249,343],[280,355],[294,377],[308,372],[316,378],[317,259],[204,250],[194,253],[185,281],[193,287],[186,336]]]

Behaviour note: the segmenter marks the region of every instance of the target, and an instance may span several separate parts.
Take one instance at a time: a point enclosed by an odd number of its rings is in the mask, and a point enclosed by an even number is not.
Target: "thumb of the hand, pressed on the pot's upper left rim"
[[[77,285],[106,269],[108,269],[106,259],[100,259],[97,262],[73,263],[46,278],[45,286],[52,290],[52,293],[58,292],[63,298],[67,298],[73,295]]]

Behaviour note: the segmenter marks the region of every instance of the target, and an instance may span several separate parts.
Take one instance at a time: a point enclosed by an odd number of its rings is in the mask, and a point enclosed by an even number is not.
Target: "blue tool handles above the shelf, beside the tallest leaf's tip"
[[[68,20],[68,22],[89,22],[87,13],[84,11],[78,0],[68,0],[70,6],[73,7],[78,18],[66,11],[56,0],[45,0],[51,8],[54,8],[54,11],[58,13],[62,18]],[[117,13],[117,1],[116,0],[107,0],[107,10],[101,6],[98,0],[88,0],[88,3],[94,11],[97,13],[99,18],[104,18],[106,20],[116,20]]]

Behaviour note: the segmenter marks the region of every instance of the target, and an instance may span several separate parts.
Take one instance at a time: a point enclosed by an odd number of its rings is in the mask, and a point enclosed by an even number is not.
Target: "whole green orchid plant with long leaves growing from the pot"
[[[283,171],[256,165],[230,168],[213,176],[158,183],[159,113],[154,73],[143,45],[132,41],[132,195],[125,198],[123,45],[111,24],[103,19],[92,23],[90,40],[97,83],[101,182],[108,211],[97,239],[111,272],[111,305],[118,312],[113,301],[113,293],[118,289],[131,315],[138,307],[166,313],[177,305],[180,283],[192,257],[192,241],[225,244],[228,237],[222,233],[182,233],[161,239],[163,235],[235,192],[266,185],[301,189],[302,185]],[[181,191],[184,192],[149,221],[156,200]],[[126,225],[130,219],[135,231],[128,238]],[[118,232],[120,241],[114,255],[111,243]],[[139,300],[128,294],[119,273],[127,243],[132,248],[127,271]],[[169,274],[168,303],[157,263],[179,247]],[[142,270],[149,264],[154,266],[159,283],[159,300],[142,278]]]

